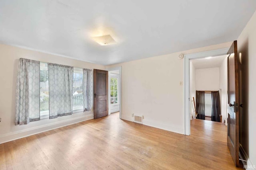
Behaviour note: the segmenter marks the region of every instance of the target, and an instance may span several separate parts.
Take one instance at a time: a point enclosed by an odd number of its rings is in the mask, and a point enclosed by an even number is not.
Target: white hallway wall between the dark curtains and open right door
[[[228,106],[228,82],[227,82],[227,59],[222,61],[220,66],[220,102],[221,102],[221,115],[222,115],[222,122],[224,119],[227,118],[227,106]]]

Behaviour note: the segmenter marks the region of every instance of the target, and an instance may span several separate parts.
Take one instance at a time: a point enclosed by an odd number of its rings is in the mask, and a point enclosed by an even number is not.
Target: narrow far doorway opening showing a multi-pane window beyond
[[[122,119],[122,67],[107,68],[108,70],[108,114],[118,114]]]

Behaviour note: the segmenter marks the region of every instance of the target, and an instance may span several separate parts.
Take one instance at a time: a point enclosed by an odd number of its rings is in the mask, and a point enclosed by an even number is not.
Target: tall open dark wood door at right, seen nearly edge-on
[[[239,61],[237,42],[228,50],[228,136],[227,143],[236,166],[239,166]]]

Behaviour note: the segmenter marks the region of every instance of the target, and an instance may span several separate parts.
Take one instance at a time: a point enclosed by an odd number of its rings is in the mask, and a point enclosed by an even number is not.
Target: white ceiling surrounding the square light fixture
[[[114,64],[233,41],[256,0],[1,0],[0,43]],[[93,36],[110,34],[115,45]]]

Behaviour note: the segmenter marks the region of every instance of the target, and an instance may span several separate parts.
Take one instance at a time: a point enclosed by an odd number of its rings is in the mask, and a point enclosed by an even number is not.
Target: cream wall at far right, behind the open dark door
[[[256,12],[237,39],[238,54],[242,64],[240,107],[240,142],[249,163],[256,165]]]

